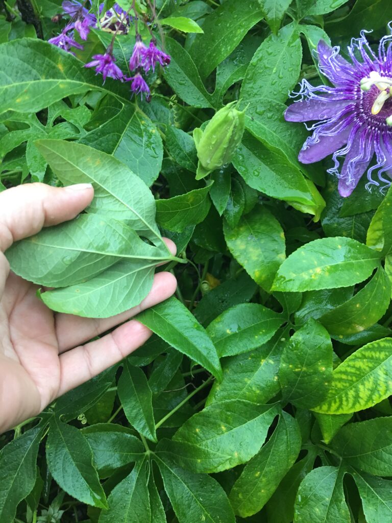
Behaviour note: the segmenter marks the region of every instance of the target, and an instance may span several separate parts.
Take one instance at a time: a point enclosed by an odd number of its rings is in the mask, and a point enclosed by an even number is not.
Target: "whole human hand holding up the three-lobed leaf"
[[[151,331],[136,320],[81,344],[169,298],[176,289],[174,276],[160,272],[140,305],[95,320],[54,313],[37,298],[36,285],[9,271],[3,253],[13,242],[75,218],[93,196],[86,184],[26,184],[0,193],[0,433],[36,416],[56,397],[140,347]],[[167,242],[175,254],[174,243]]]

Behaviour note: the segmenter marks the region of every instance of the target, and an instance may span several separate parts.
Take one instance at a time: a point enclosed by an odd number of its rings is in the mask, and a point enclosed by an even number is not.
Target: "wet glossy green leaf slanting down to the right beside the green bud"
[[[267,196],[308,206],[315,204],[301,171],[282,153],[270,151],[247,132],[233,165],[250,187]]]

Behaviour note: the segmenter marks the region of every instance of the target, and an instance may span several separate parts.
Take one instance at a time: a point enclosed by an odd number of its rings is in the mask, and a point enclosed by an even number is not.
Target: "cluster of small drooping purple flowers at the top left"
[[[91,2],[90,2],[91,3]],[[85,2],[86,4],[86,2]],[[152,39],[149,46],[146,47],[142,42],[141,36],[136,32],[136,43],[129,61],[129,69],[134,72],[134,76],[125,76],[120,67],[116,65],[116,59],[113,56],[113,42],[118,32],[122,34],[128,31],[128,27],[133,18],[128,15],[117,4],[112,9],[102,14],[103,4],[99,8],[99,23],[94,14],[77,0],[65,0],[62,4],[64,13],[71,16],[70,23],[64,27],[60,35],[49,40],[54,46],[71,52],[71,48],[83,49],[83,46],[74,38],[74,31],[79,33],[82,40],[87,40],[90,29],[98,26],[105,31],[113,32],[113,41],[107,48],[105,54],[95,54],[93,60],[85,64],[85,67],[95,67],[97,74],[102,74],[103,83],[106,78],[114,78],[121,82],[131,82],[131,90],[135,94],[143,94],[146,100],[149,100],[150,90],[142,73],[148,73],[152,69],[155,72],[156,64],[165,67],[170,63],[170,56],[156,47],[155,39]],[[102,15],[102,16],[101,16]]]

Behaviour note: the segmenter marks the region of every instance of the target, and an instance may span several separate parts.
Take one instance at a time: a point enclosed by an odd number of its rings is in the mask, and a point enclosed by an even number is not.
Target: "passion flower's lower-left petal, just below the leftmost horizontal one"
[[[302,163],[314,163],[322,160],[329,154],[337,151],[342,145],[347,143],[349,139],[351,126],[347,126],[340,132],[333,134],[326,134],[333,132],[330,129],[330,124],[324,124],[321,126],[319,133],[319,141],[316,143],[309,142],[309,139],[304,143],[303,149],[299,151],[298,160]],[[323,129],[324,133],[323,134]]]

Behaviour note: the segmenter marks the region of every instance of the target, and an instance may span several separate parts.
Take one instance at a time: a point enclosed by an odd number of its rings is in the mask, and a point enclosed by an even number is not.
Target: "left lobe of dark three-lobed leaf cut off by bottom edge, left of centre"
[[[99,523],[151,523],[146,467],[142,460],[116,485],[108,497],[108,510],[102,510]]]

